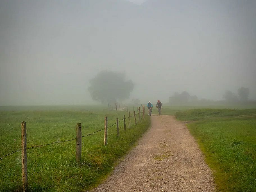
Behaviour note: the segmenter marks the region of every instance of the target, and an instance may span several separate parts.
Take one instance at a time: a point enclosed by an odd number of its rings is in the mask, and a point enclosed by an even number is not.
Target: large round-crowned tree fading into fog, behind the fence
[[[113,104],[128,99],[133,87],[134,83],[126,81],[124,73],[102,71],[90,80],[88,90],[93,100]]]

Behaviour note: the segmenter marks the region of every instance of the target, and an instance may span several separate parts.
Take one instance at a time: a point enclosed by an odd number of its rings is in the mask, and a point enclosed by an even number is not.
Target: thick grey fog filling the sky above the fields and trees
[[[255,0],[0,1],[0,106],[88,104],[109,70],[130,99],[256,99]],[[128,102],[128,101],[127,101]]]

